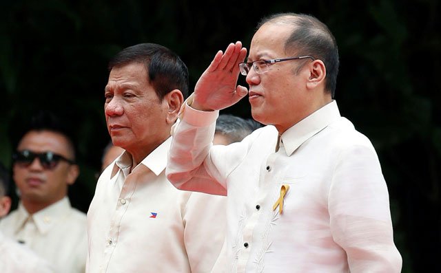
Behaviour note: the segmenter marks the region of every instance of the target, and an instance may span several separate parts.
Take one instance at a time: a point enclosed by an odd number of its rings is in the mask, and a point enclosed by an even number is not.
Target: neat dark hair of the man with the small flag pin
[[[184,98],[188,96],[188,69],[179,56],[162,45],[141,43],[126,47],[109,62],[109,71],[130,63],[143,63],[148,82],[154,87],[160,100],[174,89],[181,90]]]

